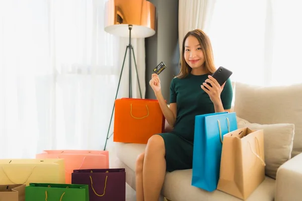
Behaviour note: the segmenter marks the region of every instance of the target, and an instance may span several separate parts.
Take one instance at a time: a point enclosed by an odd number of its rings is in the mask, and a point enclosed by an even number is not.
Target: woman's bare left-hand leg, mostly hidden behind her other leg
[[[136,188],[136,201],[144,201],[143,188],[142,188],[142,167],[143,167],[144,153],[138,155],[135,167],[135,188]]]

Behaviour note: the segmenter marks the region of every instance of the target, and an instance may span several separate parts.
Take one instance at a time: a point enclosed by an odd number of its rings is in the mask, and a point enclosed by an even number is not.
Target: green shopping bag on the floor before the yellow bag
[[[89,201],[88,185],[30,183],[25,187],[25,201]]]

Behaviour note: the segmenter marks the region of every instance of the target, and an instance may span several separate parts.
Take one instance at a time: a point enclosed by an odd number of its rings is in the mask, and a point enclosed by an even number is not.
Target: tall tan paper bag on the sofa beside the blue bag
[[[242,128],[223,136],[217,189],[247,199],[265,178],[263,130]]]

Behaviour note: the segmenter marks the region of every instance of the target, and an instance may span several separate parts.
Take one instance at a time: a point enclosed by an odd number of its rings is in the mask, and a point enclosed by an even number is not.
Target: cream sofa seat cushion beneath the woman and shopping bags
[[[131,143],[115,143],[116,154],[121,162],[125,163],[131,170],[135,171],[135,161],[137,156],[144,152],[146,145]],[[134,175],[133,175],[134,177]],[[129,178],[128,178],[129,179]],[[128,180],[127,179],[127,180]],[[134,188],[135,184],[131,186]],[[219,190],[207,192],[191,185],[192,169],[176,170],[166,174],[162,194],[171,201],[191,201],[191,200],[225,200],[240,201],[232,195]],[[258,188],[250,195],[247,200],[271,201],[274,199],[275,180],[266,177]]]

